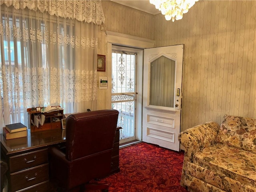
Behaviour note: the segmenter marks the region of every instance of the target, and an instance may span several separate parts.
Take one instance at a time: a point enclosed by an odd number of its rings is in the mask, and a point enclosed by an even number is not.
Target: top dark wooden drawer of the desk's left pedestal
[[[38,150],[10,157],[10,172],[16,172],[48,162],[48,150]]]

